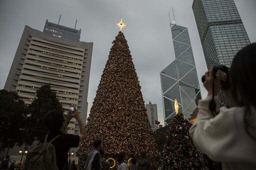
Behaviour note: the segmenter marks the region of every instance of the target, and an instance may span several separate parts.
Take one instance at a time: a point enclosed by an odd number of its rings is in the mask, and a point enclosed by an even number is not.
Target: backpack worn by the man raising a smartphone
[[[55,147],[52,142],[60,135],[47,142],[48,134],[44,143],[33,148],[26,156],[26,170],[58,170]]]

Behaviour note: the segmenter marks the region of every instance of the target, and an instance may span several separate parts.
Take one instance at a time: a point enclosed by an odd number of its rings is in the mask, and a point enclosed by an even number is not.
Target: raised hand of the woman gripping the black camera
[[[212,96],[213,88],[212,82],[214,81],[214,96],[217,96],[220,91],[220,76],[219,73],[216,73],[216,79],[213,78],[213,67],[209,71],[205,72],[205,81],[204,87],[208,91],[207,96]]]

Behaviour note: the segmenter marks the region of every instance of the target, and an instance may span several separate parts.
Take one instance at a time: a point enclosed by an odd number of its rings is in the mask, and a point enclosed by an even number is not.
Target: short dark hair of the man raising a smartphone
[[[50,131],[59,130],[63,122],[65,122],[64,113],[60,110],[50,111],[44,116],[44,124]]]

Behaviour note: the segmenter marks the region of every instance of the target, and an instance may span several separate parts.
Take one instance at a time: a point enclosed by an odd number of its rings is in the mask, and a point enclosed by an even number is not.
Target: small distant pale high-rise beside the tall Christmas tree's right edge
[[[156,130],[158,128],[158,125],[155,122],[155,120],[158,121],[157,104],[152,104],[149,101],[149,104],[146,104],[146,109],[150,126],[152,130]]]

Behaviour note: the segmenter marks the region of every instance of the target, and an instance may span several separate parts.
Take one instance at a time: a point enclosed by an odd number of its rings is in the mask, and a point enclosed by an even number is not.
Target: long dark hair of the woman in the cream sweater
[[[232,97],[239,106],[244,106],[244,123],[245,129],[251,138],[252,136],[249,128],[252,128],[250,123],[253,112],[251,106],[256,108],[256,43],[252,43],[241,49],[233,59],[230,77],[232,84]],[[239,96],[238,96],[239,95]]]

